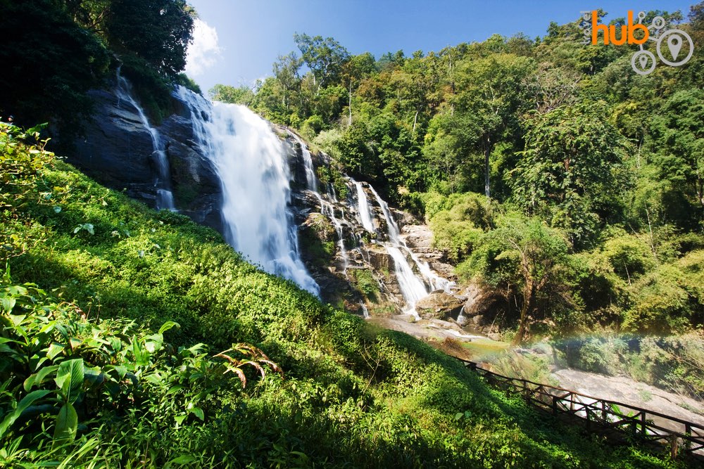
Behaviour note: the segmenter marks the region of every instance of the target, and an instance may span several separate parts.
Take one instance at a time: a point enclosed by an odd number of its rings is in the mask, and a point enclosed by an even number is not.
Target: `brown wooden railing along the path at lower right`
[[[482,375],[489,384],[500,387],[507,394],[518,395],[529,404],[555,414],[567,413],[582,418],[586,420],[587,428],[598,425],[648,442],[667,444],[673,458],[680,451],[704,457],[704,425],[560,387],[509,378],[488,371],[473,361],[461,361],[467,368]]]

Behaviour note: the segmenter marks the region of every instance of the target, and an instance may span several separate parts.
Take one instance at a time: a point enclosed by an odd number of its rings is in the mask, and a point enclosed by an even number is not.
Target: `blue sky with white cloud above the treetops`
[[[608,18],[629,9],[681,10],[697,0],[189,0],[203,23],[191,46],[187,72],[206,91],[217,83],[251,85],[271,75],[277,56],[296,50],[294,32],[334,37],[350,53],[402,49],[438,51],[491,34],[543,36],[551,21],[603,8]]]

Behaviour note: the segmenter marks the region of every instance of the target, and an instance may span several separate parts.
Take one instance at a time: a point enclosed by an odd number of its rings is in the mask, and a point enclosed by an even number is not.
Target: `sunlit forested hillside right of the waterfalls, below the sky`
[[[582,44],[577,22],[379,58],[296,34],[272,77],[210,96],[300,128],[425,217],[514,344],[626,332],[637,353],[704,323],[704,3],[657,16],[696,46],[646,76],[638,46]]]

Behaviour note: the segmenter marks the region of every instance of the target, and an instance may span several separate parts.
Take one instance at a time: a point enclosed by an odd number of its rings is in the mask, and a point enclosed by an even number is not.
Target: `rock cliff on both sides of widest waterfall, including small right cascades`
[[[92,96],[94,119],[68,162],[155,207],[158,162],[139,110],[111,91]],[[194,135],[191,110],[177,93],[173,98],[177,112],[155,128],[168,159],[176,210],[222,232],[220,179]],[[412,311],[417,317],[484,326],[486,301],[476,301],[481,293],[460,295],[452,286],[453,267],[432,248],[427,226],[389,208],[368,184],[336,172],[327,155],[311,153],[289,129],[273,129],[289,162],[290,210],[301,259],[320,285],[322,300],[365,316],[408,312],[417,304],[417,314]]]

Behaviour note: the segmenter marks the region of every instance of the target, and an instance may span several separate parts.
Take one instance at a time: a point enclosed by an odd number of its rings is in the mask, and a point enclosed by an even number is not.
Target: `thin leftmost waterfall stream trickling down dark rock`
[[[156,159],[156,168],[158,171],[158,177],[156,181],[154,181],[154,186],[156,187],[156,208],[158,210],[175,210],[174,197],[171,192],[169,160],[166,158],[166,152],[161,143],[161,136],[159,136],[159,132],[155,128],[149,125],[149,119],[146,118],[144,109],[142,109],[142,106],[132,97],[132,86],[130,82],[127,82],[125,77],[122,77],[120,73],[121,68],[122,65],[118,65],[118,87],[115,89],[115,93],[118,96],[118,105],[122,99],[130,103],[137,110],[137,114],[139,115],[139,119],[142,120],[144,128],[147,129],[149,135],[151,135],[151,145],[153,147],[153,155]]]

